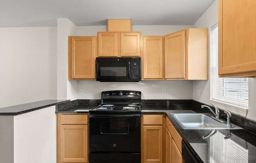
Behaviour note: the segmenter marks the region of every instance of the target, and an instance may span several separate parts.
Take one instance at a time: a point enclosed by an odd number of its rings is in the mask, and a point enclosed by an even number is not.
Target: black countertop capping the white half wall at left
[[[26,112],[31,112],[34,110],[50,107],[66,101],[69,101],[69,100],[42,100],[42,101],[36,101],[31,103],[24,103],[21,105],[14,105],[10,107],[3,107],[3,108],[0,108],[0,115],[16,116],[19,114],[24,114]]]

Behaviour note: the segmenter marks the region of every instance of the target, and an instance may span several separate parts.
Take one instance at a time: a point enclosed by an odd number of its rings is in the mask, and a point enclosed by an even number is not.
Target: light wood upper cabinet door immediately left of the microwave
[[[95,79],[95,37],[73,37],[72,79]]]

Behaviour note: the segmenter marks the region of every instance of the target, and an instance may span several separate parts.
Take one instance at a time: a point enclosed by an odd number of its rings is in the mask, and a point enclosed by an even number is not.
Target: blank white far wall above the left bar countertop
[[[0,108],[57,98],[57,28],[0,28]]]

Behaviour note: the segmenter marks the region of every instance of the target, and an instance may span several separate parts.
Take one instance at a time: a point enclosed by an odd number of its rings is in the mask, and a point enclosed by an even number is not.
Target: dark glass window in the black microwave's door
[[[101,76],[127,76],[126,67],[101,67]]]

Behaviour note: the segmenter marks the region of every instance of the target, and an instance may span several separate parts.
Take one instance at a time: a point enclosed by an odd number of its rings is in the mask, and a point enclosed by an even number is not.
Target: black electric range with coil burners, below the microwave
[[[141,92],[105,91],[89,110],[90,163],[141,162]]]

